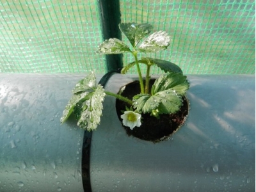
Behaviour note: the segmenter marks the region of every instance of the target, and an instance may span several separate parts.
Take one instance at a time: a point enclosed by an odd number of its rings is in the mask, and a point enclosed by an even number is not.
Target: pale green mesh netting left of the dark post
[[[102,40],[94,1],[6,1],[0,10],[0,72],[104,68],[94,54]]]

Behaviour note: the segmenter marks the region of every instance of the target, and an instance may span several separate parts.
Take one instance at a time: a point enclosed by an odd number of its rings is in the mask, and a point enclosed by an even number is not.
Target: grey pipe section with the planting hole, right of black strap
[[[114,75],[106,89],[133,79]],[[106,98],[92,135],[92,191],[255,190],[255,76],[188,79],[186,123],[160,143],[127,136]]]

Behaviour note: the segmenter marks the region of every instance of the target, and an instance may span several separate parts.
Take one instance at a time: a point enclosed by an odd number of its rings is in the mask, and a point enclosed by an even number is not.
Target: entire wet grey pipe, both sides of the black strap
[[[0,75],[0,191],[83,191],[83,130],[60,125],[83,77]],[[106,88],[117,92],[134,78],[115,75]],[[128,137],[106,98],[92,138],[93,191],[255,189],[255,77],[188,78],[188,120],[161,143]]]

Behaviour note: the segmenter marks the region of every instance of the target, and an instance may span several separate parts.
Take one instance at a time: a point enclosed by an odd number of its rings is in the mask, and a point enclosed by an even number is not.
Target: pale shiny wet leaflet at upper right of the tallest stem
[[[170,42],[170,36],[165,31],[157,31],[148,36],[138,47],[140,52],[157,52],[167,49]]]

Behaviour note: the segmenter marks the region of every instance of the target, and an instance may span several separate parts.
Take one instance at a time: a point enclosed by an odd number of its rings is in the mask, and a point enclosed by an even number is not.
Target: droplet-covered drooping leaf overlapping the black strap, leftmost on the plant
[[[97,128],[102,115],[102,102],[106,93],[100,84],[96,84],[95,73],[88,74],[84,79],[79,81],[73,95],[63,111],[61,123],[65,122],[72,112],[78,120],[77,125],[88,131]]]

